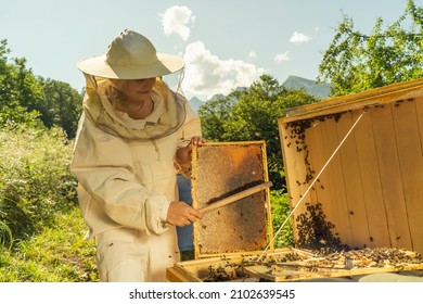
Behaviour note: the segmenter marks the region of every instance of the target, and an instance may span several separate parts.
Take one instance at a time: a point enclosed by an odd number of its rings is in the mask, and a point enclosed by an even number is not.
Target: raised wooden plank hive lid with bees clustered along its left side
[[[423,79],[291,109],[279,130],[297,242],[319,206],[344,244],[423,253]]]

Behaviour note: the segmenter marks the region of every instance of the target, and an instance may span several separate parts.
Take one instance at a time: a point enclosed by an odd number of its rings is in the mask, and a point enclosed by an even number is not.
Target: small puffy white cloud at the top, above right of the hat
[[[195,16],[192,15],[192,11],[189,8],[175,5],[167,9],[161,16],[166,36],[177,34],[183,41],[188,40],[191,34],[189,26],[195,21]]]

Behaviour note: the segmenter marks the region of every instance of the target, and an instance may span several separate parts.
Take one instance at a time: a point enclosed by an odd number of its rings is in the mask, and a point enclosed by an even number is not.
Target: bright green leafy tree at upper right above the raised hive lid
[[[318,80],[332,85],[332,96],[423,77],[423,8],[409,0],[398,21],[383,25],[377,18],[368,36],[344,16],[319,65]]]

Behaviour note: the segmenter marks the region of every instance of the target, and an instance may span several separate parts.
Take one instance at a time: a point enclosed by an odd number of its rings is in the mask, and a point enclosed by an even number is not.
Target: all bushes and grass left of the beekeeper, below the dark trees
[[[0,130],[0,281],[95,281],[60,128]]]

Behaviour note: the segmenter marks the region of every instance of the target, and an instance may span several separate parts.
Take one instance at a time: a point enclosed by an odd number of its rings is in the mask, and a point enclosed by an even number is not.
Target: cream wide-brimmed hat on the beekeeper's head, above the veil
[[[77,66],[102,78],[144,79],[178,72],[184,62],[176,55],[157,53],[146,37],[125,30],[112,41],[106,54],[81,60]]]

